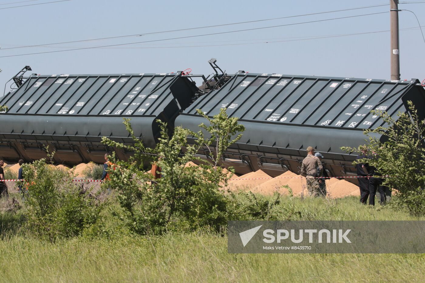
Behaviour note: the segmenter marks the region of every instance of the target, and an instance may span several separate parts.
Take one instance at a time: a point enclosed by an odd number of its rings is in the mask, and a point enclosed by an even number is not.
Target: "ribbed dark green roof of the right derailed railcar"
[[[222,88],[198,99],[184,113],[208,116],[226,107],[230,116],[252,122],[366,129],[382,125],[370,111],[405,111],[420,100],[418,80],[379,80],[238,73]]]

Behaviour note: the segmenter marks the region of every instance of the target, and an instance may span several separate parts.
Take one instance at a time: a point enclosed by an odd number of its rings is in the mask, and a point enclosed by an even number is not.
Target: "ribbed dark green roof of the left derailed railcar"
[[[8,114],[65,116],[158,116],[177,98],[180,108],[190,97],[171,87],[190,88],[178,74],[32,75],[17,91],[0,100]],[[184,85],[186,83],[186,85]],[[187,97],[184,97],[184,96]]]

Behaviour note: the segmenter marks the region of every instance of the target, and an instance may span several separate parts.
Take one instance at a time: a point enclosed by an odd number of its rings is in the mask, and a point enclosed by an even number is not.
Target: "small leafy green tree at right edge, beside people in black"
[[[372,110],[385,122],[385,126],[367,129],[366,147],[379,158],[360,160],[388,175],[383,185],[398,191],[397,204],[407,208],[412,215],[425,213],[425,120],[420,120],[411,101],[409,113],[398,113],[398,119],[388,113]],[[378,139],[379,137],[379,139]],[[359,148],[341,147],[349,152],[360,152]]]

